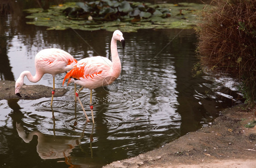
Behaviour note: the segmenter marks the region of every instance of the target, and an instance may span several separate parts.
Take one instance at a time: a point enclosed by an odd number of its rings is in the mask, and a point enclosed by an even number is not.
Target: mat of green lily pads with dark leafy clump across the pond
[[[47,26],[48,30],[81,29],[123,32],[137,29],[191,29],[196,24],[196,14],[202,4],[142,4],[138,2],[98,0],[89,3],[65,3],[42,9],[26,10],[33,19],[27,24]],[[63,12],[63,13],[62,13]]]

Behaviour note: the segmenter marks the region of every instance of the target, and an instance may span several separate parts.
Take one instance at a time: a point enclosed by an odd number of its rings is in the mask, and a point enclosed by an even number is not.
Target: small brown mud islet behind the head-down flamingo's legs
[[[0,81],[0,100],[2,99],[39,99],[51,97],[52,87],[44,85],[23,85],[20,89],[22,98],[15,95],[15,81]],[[56,88],[54,97],[63,96],[67,92],[65,88]]]

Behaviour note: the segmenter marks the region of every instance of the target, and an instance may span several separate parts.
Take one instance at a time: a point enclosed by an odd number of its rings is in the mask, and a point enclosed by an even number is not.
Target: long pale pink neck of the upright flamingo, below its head
[[[111,39],[111,57],[113,62],[113,76],[118,77],[121,73],[121,62],[118,56],[117,40]]]

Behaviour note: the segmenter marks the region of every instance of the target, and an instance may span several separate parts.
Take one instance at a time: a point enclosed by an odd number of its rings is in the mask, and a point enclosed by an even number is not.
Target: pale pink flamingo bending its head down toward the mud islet
[[[20,88],[23,86],[24,77],[26,76],[30,82],[38,82],[45,73],[49,73],[53,77],[53,89],[51,91],[51,107],[53,96],[55,93],[55,76],[56,74],[67,72],[77,64],[77,60],[66,51],[57,48],[47,48],[39,51],[35,57],[36,75],[32,76],[31,72],[23,71],[15,82],[15,94],[19,97]]]

